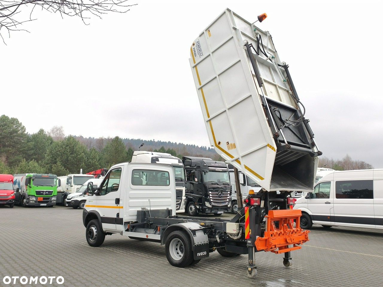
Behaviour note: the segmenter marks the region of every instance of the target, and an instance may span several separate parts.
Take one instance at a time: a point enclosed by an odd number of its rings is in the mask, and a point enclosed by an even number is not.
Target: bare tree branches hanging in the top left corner
[[[7,33],[9,38],[11,31],[27,31],[21,25],[36,20],[32,19],[36,6],[51,13],[59,13],[62,18],[64,15],[80,17],[88,25],[85,19],[90,19],[92,15],[101,19],[106,13],[126,13],[130,10],[129,7],[137,5],[128,5],[127,2],[128,0],[0,0],[0,37],[5,44],[3,33]],[[29,19],[16,20],[21,17],[19,12],[29,12],[27,9],[30,9]]]

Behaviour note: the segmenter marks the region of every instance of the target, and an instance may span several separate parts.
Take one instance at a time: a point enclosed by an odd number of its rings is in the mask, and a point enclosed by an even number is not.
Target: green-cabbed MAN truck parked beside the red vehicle
[[[21,206],[56,205],[56,174],[24,173],[13,175],[15,203]]]

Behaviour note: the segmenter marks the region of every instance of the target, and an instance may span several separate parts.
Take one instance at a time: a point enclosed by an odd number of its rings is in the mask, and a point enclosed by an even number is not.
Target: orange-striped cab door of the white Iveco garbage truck
[[[95,210],[101,216],[103,229],[116,230],[116,223],[122,217],[120,217],[120,210],[123,208],[120,205],[122,170],[123,166],[113,168],[100,184]]]

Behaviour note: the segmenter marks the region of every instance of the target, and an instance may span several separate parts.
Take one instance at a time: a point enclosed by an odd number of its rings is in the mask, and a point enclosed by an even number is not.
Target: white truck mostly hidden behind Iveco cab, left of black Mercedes
[[[182,160],[170,153],[136,150],[133,152],[131,162],[160,163],[162,165],[172,166],[175,178],[175,210],[177,213],[185,212],[185,170],[183,168]],[[155,180],[157,179],[153,179],[153,181]]]

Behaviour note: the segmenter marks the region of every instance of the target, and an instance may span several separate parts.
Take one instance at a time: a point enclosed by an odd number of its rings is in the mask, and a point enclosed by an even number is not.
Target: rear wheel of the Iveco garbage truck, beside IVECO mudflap
[[[175,267],[186,267],[193,263],[191,240],[186,231],[176,230],[169,234],[165,243],[166,258]]]

